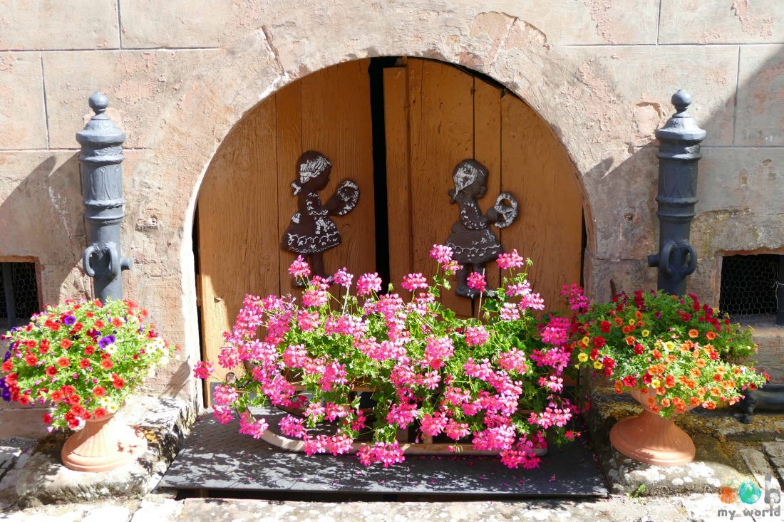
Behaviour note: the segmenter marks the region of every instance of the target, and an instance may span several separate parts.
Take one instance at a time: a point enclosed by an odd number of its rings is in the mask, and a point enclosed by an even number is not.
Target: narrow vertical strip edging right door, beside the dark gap
[[[390,280],[398,288],[413,270],[411,178],[408,157],[408,69],[385,69],[384,128],[387,136],[387,216]]]

